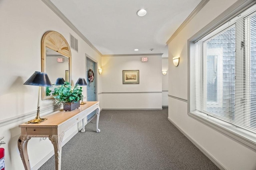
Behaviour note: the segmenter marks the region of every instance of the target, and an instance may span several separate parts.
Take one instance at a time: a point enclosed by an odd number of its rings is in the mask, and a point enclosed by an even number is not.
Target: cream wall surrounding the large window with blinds
[[[188,116],[188,51],[187,40],[230,7],[234,0],[210,0],[196,16],[168,44],[169,48],[169,113],[172,121],[200,149],[209,154],[212,160],[227,170],[255,170],[256,152],[241,145],[234,139],[208,127]],[[180,57],[175,67],[172,57]],[[180,98],[178,100],[177,98]]]

